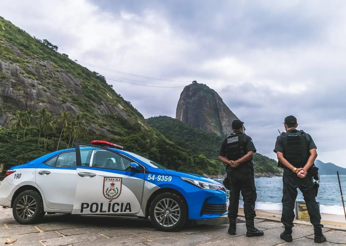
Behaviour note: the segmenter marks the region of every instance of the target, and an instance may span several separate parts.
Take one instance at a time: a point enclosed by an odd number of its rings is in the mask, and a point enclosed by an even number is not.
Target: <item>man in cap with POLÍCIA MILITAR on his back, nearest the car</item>
[[[243,195],[244,213],[246,221],[246,236],[263,236],[261,230],[255,228],[255,202],[257,199],[254,170],[252,161],[256,148],[251,137],[244,134],[244,122],[232,122],[233,134],[221,144],[219,160],[226,164],[227,178],[225,186],[230,190],[228,218],[230,235],[236,234],[236,220],[238,217],[240,191]],[[228,187],[227,187],[228,186]]]

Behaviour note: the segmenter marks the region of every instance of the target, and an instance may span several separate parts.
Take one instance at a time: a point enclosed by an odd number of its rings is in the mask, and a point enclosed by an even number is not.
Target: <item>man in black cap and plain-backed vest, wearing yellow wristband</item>
[[[286,242],[292,242],[294,203],[298,195],[297,188],[299,188],[303,193],[310,222],[314,228],[315,243],[326,242],[326,237],[322,234],[323,225],[310,173],[315,167],[313,164],[317,157],[317,147],[309,134],[296,129],[298,123],[294,116],[287,116],[284,121],[286,132],[277,136],[274,148],[279,161],[278,166],[283,168],[281,222],[285,229],[280,234],[280,238]]]

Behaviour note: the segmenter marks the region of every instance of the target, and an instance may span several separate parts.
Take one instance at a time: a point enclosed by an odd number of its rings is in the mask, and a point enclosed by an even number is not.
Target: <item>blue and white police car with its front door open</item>
[[[225,186],[205,176],[167,169],[104,140],[75,143],[11,167],[0,184],[0,205],[19,224],[45,213],[150,217],[162,231],[188,220],[227,213]]]

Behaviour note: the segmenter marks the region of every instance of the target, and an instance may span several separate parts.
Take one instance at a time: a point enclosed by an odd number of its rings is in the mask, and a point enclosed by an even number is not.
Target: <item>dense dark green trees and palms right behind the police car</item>
[[[0,127],[0,164],[4,164],[4,171],[10,166],[24,164],[57,149],[74,147],[74,142],[90,143],[95,139],[124,146],[125,150],[140,154],[172,170],[217,175],[223,168],[204,155],[175,145],[156,130],[148,134],[125,121],[123,124],[126,136],[87,134],[84,116],[71,116],[66,111],[54,116],[46,109],[39,109],[34,114],[18,110],[11,120],[10,129]]]

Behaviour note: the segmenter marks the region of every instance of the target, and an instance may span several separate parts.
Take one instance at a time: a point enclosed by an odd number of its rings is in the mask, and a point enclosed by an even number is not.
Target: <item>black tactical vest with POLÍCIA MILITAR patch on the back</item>
[[[246,135],[233,133],[227,137],[226,157],[228,160],[236,161],[246,154]]]

